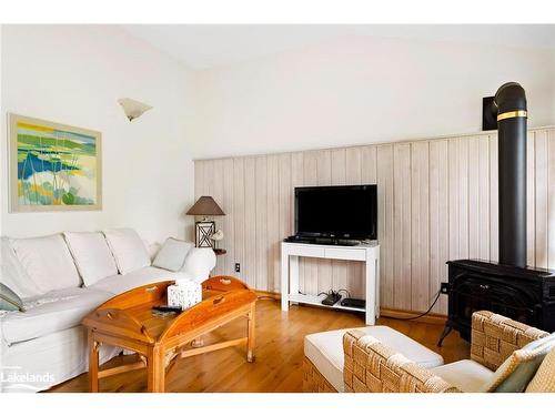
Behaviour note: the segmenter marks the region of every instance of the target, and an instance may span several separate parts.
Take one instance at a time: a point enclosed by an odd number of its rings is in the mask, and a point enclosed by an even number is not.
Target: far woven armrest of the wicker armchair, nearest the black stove
[[[496,371],[514,351],[547,335],[493,312],[475,312],[472,315],[471,358]]]

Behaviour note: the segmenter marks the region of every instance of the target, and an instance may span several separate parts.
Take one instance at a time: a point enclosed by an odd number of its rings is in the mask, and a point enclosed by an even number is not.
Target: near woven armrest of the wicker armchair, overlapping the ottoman
[[[458,389],[361,331],[343,336],[349,393],[455,393]]]

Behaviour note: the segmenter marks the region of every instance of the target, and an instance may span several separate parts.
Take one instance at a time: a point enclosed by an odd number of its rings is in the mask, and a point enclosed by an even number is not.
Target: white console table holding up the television
[[[366,307],[322,305],[325,295],[299,293],[299,257],[349,260],[365,263]],[[289,303],[304,303],[335,310],[359,311],[366,314],[366,325],[374,325],[380,317],[380,245],[376,242],[360,245],[320,245],[281,243],[281,310],[289,311]]]

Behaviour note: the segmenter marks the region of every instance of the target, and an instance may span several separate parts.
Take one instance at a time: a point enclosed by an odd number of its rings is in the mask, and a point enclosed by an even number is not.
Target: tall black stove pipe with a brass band
[[[526,136],[524,89],[503,84],[497,106],[500,172],[500,263],[526,267]]]

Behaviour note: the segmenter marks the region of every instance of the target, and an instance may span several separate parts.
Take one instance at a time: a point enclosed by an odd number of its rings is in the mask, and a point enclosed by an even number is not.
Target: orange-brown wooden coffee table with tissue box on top
[[[214,276],[202,284],[203,301],[180,314],[157,316],[152,307],[167,304],[173,281],[154,283],[122,293],[100,305],[82,322],[89,335],[90,390],[99,390],[99,378],[147,367],[148,390],[164,392],[165,372],[176,358],[191,357],[235,345],[246,345],[246,361],[254,361],[256,294],[231,276]],[[248,321],[246,336],[198,348],[200,336],[238,318]],[[99,347],[114,345],[134,351],[137,363],[99,371]]]

